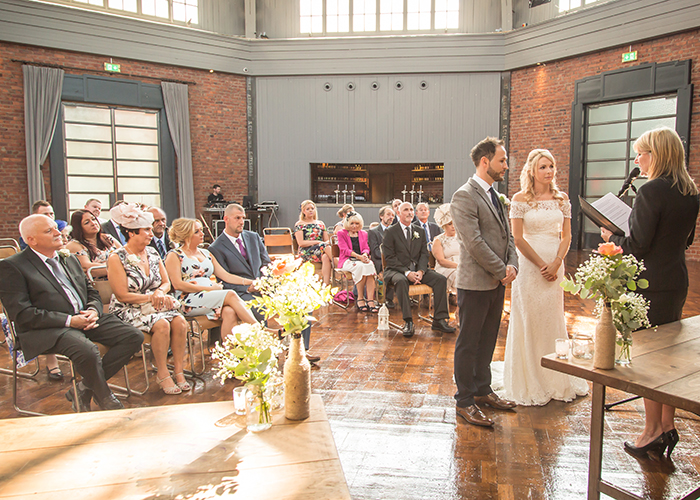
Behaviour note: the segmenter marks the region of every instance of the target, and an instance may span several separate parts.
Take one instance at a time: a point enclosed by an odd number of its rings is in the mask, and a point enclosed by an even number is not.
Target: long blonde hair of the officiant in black
[[[644,132],[634,142],[637,153],[651,153],[649,179],[671,177],[683,196],[698,194],[698,187],[685,168],[685,150],[678,133],[668,127]]]

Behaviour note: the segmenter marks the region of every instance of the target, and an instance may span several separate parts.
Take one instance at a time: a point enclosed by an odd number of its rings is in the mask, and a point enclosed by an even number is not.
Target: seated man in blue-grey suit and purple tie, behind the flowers
[[[270,263],[270,256],[260,235],[243,229],[245,209],[231,203],[224,212],[224,221],[226,228],[209,246],[209,251],[227,272],[250,280],[259,278],[260,269]],[[224,288],[234,290],[245,301],[257,295],[253,285],[224,283]],[[253,310],[253,314],[261,319],[257,311]]]

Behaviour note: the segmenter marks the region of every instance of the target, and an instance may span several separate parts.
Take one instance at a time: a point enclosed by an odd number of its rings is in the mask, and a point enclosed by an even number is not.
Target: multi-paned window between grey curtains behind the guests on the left
[[[63,104],[67,204],[161,206],[158,112]]]

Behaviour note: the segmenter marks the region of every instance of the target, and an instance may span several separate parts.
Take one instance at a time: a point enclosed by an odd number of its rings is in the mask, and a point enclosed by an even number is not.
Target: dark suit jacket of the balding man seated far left
[[[94,309],[101,317],[100,294],[90,285],[77,257],[71,254],[58,260],[85,309]],[[31,248],[0,261],[0,299],[15,322],[27,359],[52,348],[68,329],[68,316],[74,314],[65,290]]]

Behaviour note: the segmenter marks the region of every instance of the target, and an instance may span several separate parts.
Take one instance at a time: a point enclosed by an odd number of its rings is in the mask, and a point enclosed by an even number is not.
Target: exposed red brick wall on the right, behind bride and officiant
[[[622,53],[629,50],[630,46],[625,45],[512,72],[508,153],[515,162],[510,162],[510,195],[518,191],[523,163],[534,148],[552,152],[557,160],[559,187],[568,190],[571,105],[576,80],[637,64],[685,59],[692,60],[694,85],[689,171],[700,184],[700,30],[633,44],[631,50],[637,51],[639,60],[623,64]],[[700,238],[695,240],[687,252],[690,260],[700,260]]]

